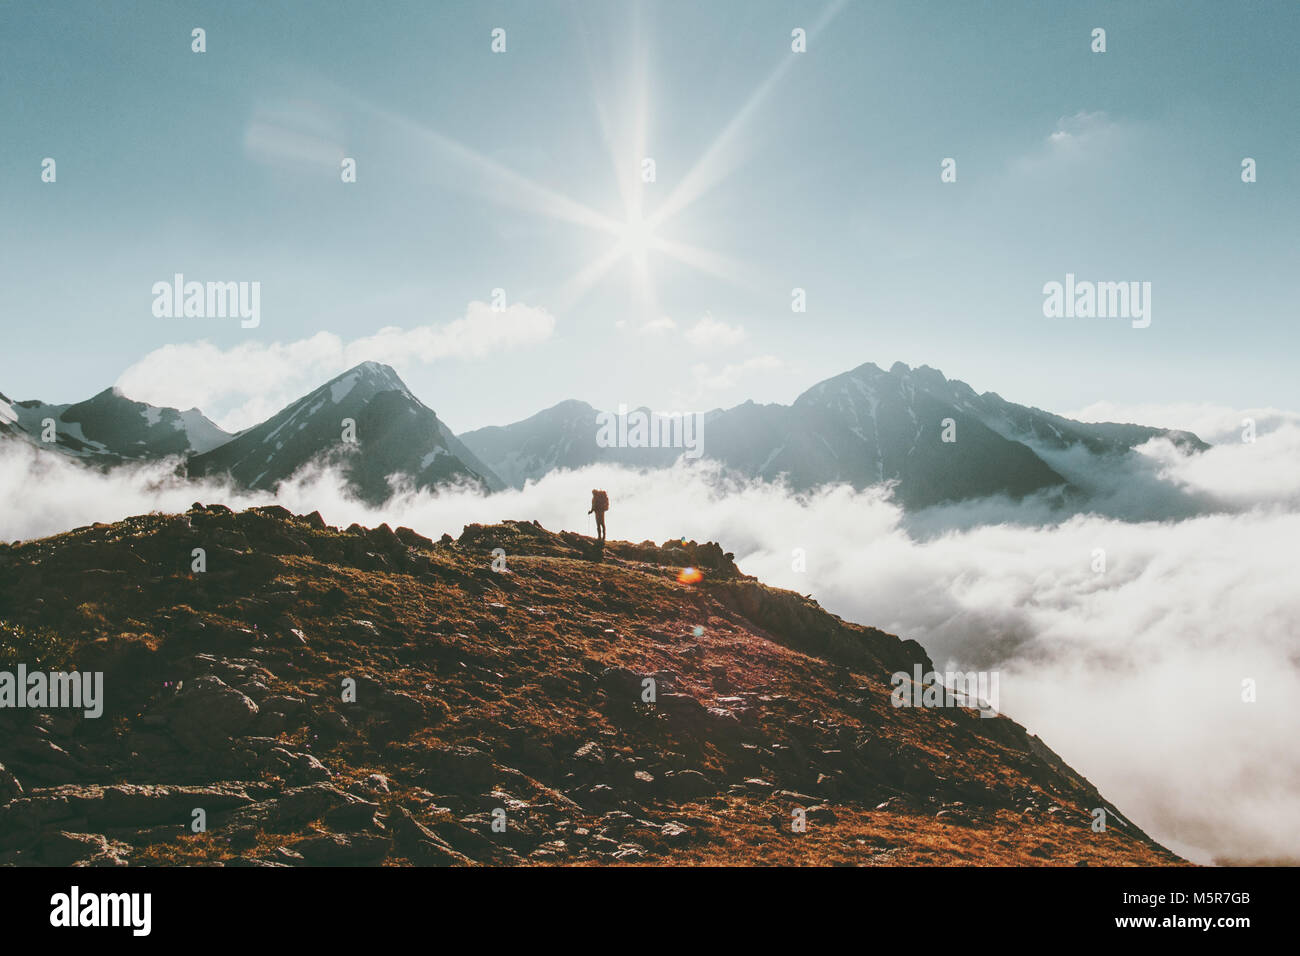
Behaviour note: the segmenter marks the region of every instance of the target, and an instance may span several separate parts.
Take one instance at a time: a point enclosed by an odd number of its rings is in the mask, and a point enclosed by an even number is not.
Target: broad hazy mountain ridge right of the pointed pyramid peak
[[[680,451],[598,447],[597,411],[562,402],[524,421],[462,436],[515,486],[559,467],[619,462],[662,467]],[[945,425],[952,441],[944,441]],[[742,475],[784,479],[796,490],[842,481],[883,481],[906,507],[991,494],[1022,497],[1067,486],[1052,453],[1083,449],[1095,458],[1127,454],[1169,437],[1186,450],[1208,447],[1188,432],[1123,424],[1088,424],[983,395],[922,365],[888,372],[867,363],[827,378],[793,405],[745,402],[705,416],[703,457]]]

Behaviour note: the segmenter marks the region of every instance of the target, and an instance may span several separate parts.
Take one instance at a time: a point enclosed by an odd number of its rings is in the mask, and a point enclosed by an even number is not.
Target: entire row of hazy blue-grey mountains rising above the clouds
[[[312,462],[332,462],[372,503],[386,499],[394,481],[417,489],[469,481],[500,490],[559,468],[662,468],[682,454],[681,447],[602,446],[599,412],[576,399],[458,438],[393,368],[373,362],[234,436],[196,408],[157,408],[116,389],[72,406],[0,401],[0,438],[49,447],[42,437],[53,420],[53,447],[87,464],[179,457],[191,476],[229,476],[237,486],[269,490]],[[784,480],[797,492],[888,481],[907,509],[993,494],[1065,494],[1070,476],[1045,460],[1052,453],[1083,451],[1106,467],[1157,437],[1186,453],[1209,447],[1190,432],[1075,421],[902,363],[888,371],[859,365],[789,406],[745,402],[710,411],[698,436],[705,459],[740,476]]]

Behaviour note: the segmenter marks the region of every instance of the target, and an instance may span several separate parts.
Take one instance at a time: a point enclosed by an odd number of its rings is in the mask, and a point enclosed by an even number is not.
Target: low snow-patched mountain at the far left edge
[[[198,408],[178,411],[105,389],[75,405],[0,395],[0,434],[26,438],[90,464],[113,466],[208,451],[230,440]]]

